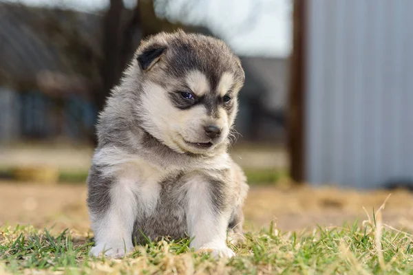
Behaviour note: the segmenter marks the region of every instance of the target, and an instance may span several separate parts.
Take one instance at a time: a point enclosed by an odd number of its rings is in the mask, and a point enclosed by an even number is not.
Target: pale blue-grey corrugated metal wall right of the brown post
[[[413,181],[413,1],[310,0],[306,175]]]

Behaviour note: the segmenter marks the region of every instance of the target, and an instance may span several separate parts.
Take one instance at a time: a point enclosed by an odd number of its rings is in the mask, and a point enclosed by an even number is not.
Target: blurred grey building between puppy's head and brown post
[[[237,130],[248,140],[284,143],[288,104],[288,58],[241,56],[245,85],[240,91]]]

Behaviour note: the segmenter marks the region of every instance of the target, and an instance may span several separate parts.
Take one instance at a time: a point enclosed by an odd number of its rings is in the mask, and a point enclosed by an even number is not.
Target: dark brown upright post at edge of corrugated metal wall
[[[293,2],[293,54],[291,55],[290,108],[288,111],[288,151],[290,176],[297,183],[305,181],[305,61],[306,1]]]

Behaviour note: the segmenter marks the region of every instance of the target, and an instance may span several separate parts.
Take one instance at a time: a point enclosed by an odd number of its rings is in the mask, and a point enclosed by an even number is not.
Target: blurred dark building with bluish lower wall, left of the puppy
[[[0,3],[0,141],[92,131],[91,83],[78,69],[88,60],[74,62],[75,45],[61,27],[98,53],[99,24],[94,14]]]

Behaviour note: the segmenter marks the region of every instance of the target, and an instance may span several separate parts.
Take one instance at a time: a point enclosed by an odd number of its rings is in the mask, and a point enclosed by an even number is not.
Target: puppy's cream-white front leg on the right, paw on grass
[[[213,256],[235,256],[226,246],[231,210],[224,182],[196,177],[189,182],[187,196],[187,227],[193,239],[191,248],[211,252]]]

